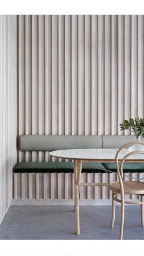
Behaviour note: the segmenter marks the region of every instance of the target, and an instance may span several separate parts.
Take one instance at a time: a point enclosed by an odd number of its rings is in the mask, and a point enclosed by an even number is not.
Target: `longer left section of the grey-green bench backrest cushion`
[[[52,151],[69,148],[101,148],[102,137],[98,135],[23,135],[20,136],[21,151]]]

